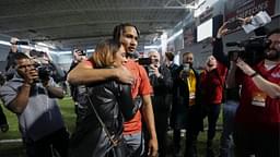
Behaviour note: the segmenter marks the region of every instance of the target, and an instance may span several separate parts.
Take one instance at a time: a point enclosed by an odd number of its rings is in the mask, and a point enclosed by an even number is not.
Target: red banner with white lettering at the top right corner
[[[234,21],[236,17],[247,17],[267,11],[275,14],[275,0],[226,0],[224,3],[224,20]]]

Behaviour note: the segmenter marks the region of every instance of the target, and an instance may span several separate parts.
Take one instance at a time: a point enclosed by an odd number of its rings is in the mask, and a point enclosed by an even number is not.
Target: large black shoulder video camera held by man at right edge
[[[269,47],[271,41],[267,36],[256,36],[247,40],[226,43],[226,47],[238,47],[242,49],[236,49],[229,51],[230,53],[238,53],[237,57],[242,58],[246,63],[254,65],[265,58],[265,49]]]

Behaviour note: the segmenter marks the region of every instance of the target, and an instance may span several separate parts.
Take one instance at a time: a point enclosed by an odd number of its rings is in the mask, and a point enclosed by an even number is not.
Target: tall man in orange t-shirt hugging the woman
[[[139,108],[135,118],[125,123],[125,138],[128,145],[135,152],[143,150],[143,136],[141,133],[141,116],[143,116],[143,119],[147,123],[147,129],[150,133],[148,154],[149,156],[156,156],[158,138],[154,126],[153,108],[150,97],[150,94],[152,94],[152,87],[143,67],[139,65],[132,60],[138,45],[138,36],[139,32],[135,25],[128,23],[117,25],[114,29],[114,39],[120,41],[126,48],[127,56],[129,58],[128,62],[126,63],[126,68],[121,67],[110,70],[96,70],[93,69],[94,63],[89,64],[89,61],[82,62],[69,73],[68,81],[72,84],[89,84],[96,81],[117,78],[124,83],[130,83],[132,97],[137,98],[140,96],[142,98],[143,105]]]

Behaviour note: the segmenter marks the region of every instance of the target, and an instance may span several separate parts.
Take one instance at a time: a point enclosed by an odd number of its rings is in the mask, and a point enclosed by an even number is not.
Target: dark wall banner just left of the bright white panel
[[[183,37],[184,37],[184,48],[192,46],[197,40],[195,25],[185,27],[183,32]]]

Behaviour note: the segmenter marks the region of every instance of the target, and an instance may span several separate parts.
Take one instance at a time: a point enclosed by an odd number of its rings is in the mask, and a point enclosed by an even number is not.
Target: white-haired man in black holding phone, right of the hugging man
[[[148,53],[151,63],[147,67],[150,83],[153,87],[152,105],[154,110],[155,131],[159,138],[159,156],[166,156],[166,133],[171,109],[171,89],[173,80],[170,70],[161,65],[161,57],[156,50]]]

